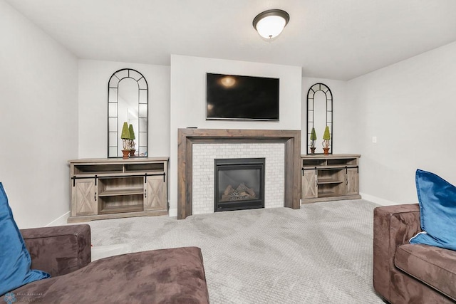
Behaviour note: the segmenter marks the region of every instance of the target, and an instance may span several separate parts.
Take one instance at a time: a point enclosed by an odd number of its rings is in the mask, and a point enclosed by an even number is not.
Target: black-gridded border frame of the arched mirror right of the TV
[[[312,128],[314,127],[314,95],[317,92],[323,92],[326,96],[326,125],[329,127],[329,134],[331,135],[331,140],[329,143],[329,154],[333,154],[333,93],[328,88],[328,85],[323,83],[316,83],[311,85],[309,91],[307,91],[307,146],[306,146],[306,154],[323,154],[321,153],[311,153],[311,132]],[[323,134],[323,133],[322,133]]]

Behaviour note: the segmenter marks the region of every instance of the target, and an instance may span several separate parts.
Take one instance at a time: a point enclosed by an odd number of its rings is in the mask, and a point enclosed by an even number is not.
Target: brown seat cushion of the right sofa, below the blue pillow
[[[394,264],[410,276],[456,300],[456,251],[405,244],[397,248]]]

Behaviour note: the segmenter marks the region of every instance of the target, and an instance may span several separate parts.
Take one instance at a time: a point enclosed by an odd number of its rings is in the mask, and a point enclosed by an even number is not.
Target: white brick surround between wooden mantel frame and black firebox
[[[193,145],[193,214],[214,212],[214,159],[264,157],[264,208],[284,206],[284,143]]]

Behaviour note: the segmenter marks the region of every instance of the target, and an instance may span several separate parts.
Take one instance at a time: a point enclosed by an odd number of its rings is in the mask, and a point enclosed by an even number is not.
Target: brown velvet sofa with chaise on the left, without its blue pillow
[[[31,268],[51,278],[16,290],[14,303],[209,303],[201,250],[127,253],[90,262],[90,226],[24,229]]]

